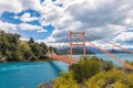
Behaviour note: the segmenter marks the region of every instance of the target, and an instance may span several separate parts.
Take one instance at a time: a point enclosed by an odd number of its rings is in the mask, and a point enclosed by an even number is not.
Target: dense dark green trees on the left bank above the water
[[[33,38],[21,41],[19,34],[0,31],[0,62],[44,61],[47,45]]]

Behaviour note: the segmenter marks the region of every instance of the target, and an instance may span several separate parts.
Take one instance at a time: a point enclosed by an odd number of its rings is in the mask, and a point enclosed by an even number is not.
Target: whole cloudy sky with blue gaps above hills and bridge
[[[133,0],[0,0],[0,30],[53,45],[84,31],[101,47],[112,46],[90,34],[133,47]]]

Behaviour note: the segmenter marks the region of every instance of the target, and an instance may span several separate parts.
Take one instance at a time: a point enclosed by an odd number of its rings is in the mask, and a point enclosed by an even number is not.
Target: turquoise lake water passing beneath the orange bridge
[[[115,54],[122,59],[133,61],[133,54]],[[79,55],[76,55],[79,56]],[[92,56],[92,55],[91,55]],[[105,54],[96,56],[112,61]],[[25,62],[0,64],[0,88],[37,88],[40,82],[50,81],[60,76],[61,72],[68,72],[69,65],[62,62]]]

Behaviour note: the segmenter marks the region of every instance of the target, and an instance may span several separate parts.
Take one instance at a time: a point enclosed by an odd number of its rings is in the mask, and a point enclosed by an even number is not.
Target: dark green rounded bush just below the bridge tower
[[[73,64],[71,69],[73,70],[74,79],[78,82],[82,82],[99,73],[102,67],[103,61],[93,56],[91,58],[83,57],[79,63]]]

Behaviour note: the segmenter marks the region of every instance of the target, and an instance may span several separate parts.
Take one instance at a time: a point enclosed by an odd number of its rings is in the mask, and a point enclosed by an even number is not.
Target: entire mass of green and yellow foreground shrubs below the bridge
[[[127,73],[96,56],[81,58],[55,79],[54,88],[133,88],[133,70]]]

